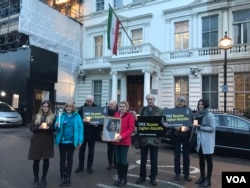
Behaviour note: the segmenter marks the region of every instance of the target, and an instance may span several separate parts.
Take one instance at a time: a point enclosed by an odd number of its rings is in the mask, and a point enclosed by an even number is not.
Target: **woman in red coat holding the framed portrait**
[[[118,112],[114,117],[121,118],[120,134],[116,137],[117,142],[114,142],[115,158],[117,164],[118,179],[114,185],[121,187],[127,183],[128,173],[128,149],[131,145],[131,134],[135,127],[135,118],[128,111],[129,104],[127,101],[121,101],[118,105]]]

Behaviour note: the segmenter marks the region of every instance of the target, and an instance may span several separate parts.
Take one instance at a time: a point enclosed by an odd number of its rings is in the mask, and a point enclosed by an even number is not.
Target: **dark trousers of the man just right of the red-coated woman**
[[[140,164],[140,177],[146,178],[146,164],[147,164],[147,156],[148,151],[150,151],[150,178],[155,179],[158,174],[158,146],[146,145],[141,146],[141,164]]]

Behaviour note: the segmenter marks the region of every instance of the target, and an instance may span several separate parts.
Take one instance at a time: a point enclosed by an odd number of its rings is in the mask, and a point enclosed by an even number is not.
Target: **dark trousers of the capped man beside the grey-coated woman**
[[[189,175],[189,136],[174,136],[174,172],[181,174],[181,147],[183,157],[183,174]]]

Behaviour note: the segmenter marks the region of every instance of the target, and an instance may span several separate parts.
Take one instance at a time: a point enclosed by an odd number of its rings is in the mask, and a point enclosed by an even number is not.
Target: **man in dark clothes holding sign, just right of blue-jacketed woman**
[[[79,173],[84,170],[84,160],[85,160],[85,151],[86,146],[88,144],[88,159],[87,159],[87,172],[89,174],[93,173],[92,165],[94,161],[94,151],[95,151],[95,140],[97,139],[97,135],[99,135],[98,125],[94,123],[90,123],[88,119],[84,118],[83,108],[84,107],[96,107],[97,105],[94,103],[94,97],[92,95],[86,96],[86,100],[83,106],[80,107],[78,113],[81,116],[84,125],[84,142],[79,150],[79,166],[75,170],[76,173]]]

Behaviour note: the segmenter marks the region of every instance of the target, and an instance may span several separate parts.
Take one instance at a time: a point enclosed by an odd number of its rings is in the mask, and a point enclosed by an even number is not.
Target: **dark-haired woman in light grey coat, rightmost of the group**
[[[211,186],[211,176],[213,171],[213,158],[215,146],[215,119],[209,112],[209,103],[206,99],[200,99],[197,105],[195,119],[197,126],[197,146],[199,154],[200,178],[195,181],[200,187]],[[205,176],[205,161],[207,163],[207,176]]]

